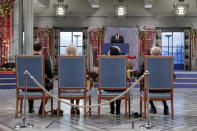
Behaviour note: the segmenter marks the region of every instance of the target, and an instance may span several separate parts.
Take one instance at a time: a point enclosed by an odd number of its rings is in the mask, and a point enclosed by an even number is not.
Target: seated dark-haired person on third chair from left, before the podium
[[[120,55],[121,51],[120,48],[117,46],[113,46],[109,49],[109,55]],[[114,90],[107,90],[110,92],[118,92],[118,91],[114,91]],[[116,100],[116,114],[119,115],[120,114],[120,104],[121,104],[121,100]],[[110,113],[114,114],[114,102],[110,103]]]

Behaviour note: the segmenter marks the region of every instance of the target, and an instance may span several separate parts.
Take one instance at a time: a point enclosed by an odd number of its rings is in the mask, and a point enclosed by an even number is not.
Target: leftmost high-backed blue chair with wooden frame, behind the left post
[[[20,112],[24,99],[24,72],[27,70],[45,88],[45,65],[44,56],[16,56],[16,114],[18,114],[18,103],[21,100]],[[51,111],[53,110],[53,98],[45,94],[41,88],[28,76],[27,78],[27,100],[42,100],[42,116],[44,117],[45,100],[51,99]]]

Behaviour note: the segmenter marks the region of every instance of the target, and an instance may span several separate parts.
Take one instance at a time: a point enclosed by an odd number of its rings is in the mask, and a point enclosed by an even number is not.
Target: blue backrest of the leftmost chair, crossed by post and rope
[[[44,86],[44,57],[41,55],[16,56],[16,84],[17,88],[24,88],[24,72],[27,70]],[[45,87],[45,86],[44,86]],[[28,76],[27,88],[38,88],[38,85]]]

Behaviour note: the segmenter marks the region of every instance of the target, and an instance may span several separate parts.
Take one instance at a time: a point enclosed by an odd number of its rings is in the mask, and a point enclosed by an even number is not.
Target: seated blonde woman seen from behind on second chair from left
[[[73,43],[68,45],[68,47],[66,48],[66,51],[65,51],[65,55],[66,56],[76,56],[77,55],[77,48]],[[74,91],[72,91],[72,92],[74,92]],[[72,104],[74,104],[74,99],[70,100],[70,102]],[[76,105],[79,105],[79,100],[76,100]],[[77,115],[80,114],[79,108],[78,107],[74,108],[74,106],[71,106],[70,112],[71,112],[72,115],[75,114],[75,113]]]

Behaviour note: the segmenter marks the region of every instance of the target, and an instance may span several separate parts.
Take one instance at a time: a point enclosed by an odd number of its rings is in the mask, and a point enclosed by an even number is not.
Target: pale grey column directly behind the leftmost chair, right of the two
[[[24,55],[33,54],[33,0],[23,0]]]

